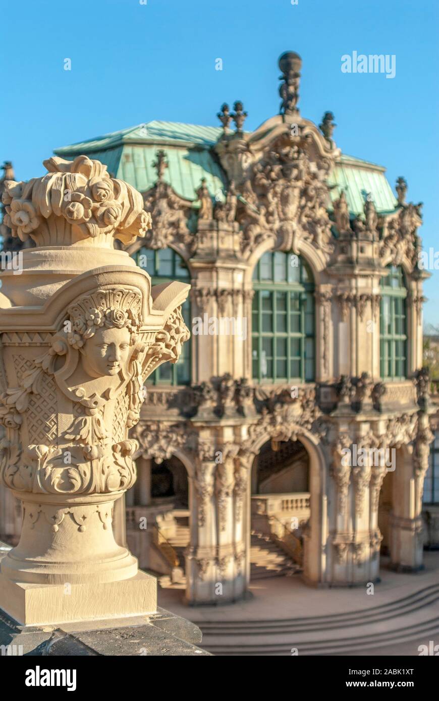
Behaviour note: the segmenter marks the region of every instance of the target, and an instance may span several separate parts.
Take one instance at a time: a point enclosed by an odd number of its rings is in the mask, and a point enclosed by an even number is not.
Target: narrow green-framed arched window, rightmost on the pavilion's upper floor
[[[407,377],[407,289],[402,268],[387,270],[381,278],[380,372],[383,380],[402,380]]]

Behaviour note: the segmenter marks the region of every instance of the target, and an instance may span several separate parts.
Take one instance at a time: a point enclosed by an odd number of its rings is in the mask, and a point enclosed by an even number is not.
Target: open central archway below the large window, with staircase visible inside
[[[300,440],[268,440],[251,470],[250,580],[302,572],[311,517],[309,454]]]

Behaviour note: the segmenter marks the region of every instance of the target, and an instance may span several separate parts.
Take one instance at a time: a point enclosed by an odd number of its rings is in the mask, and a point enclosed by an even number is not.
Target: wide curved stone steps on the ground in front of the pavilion
[[[282,620],[201,621],[215,655],[349,655],[439,635],[439,583],[367,610]],[[416,648],[414,647],[414,654]]]

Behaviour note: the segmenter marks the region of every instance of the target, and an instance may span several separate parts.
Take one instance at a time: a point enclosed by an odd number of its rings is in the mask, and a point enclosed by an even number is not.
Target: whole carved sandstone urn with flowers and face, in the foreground
[[[1,275],[0,479],[23,521],[0,607],[23,625],[151,613],[156,580],[114,540],[112,512],[136,478],[143,383],[189,338],[189,285],[151,288],[114,249],[151,228],[133,187],[86,156],[44,165],[4,192],[6,224],[36,248]]]

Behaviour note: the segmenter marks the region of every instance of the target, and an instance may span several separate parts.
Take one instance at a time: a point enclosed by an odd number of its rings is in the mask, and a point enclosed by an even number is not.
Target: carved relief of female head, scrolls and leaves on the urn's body
[[[67,308],[46,353],[27,361],[20,386],[0,396],[0,421],[12,432],[2,446],[6,486],[36,494],[91,494],[134,484],[138,445],[127,431],[139,418],[144,377],[151,364],[176,362],[189,336],[180,308],[170,313],[163,331],[152,334],[142,330],[140,309],[140,293],[128,288],[80,297]],[[21,451],[17,435],[27,426],[31,397],[36,407],[47,403],[48,376],[71,402],[72,418],[54,442],[40,433],[47,444]]]

